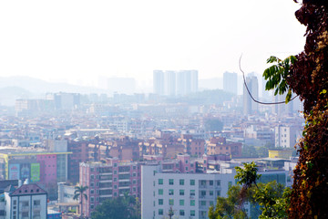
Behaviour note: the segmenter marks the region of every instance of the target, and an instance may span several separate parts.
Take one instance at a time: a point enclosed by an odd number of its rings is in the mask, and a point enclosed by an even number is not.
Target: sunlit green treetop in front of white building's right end
[[[247,218],[244,203],[260,206],[259,218],[287,218],[291,190],[281,183],[258,183],[261,175],[254,162],[236,167],[237,186],[231,186],[228,197],[218,197],[216,206],[210,207],[210,219]],[[241,187],[242,186],[242,187]]]

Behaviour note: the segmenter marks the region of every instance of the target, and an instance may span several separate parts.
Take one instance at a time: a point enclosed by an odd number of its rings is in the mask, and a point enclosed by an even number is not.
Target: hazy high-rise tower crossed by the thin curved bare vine
[[[246,87],[243,88],[243,113],[245,115],[254,114],[259,110],[259,104],[251,99],[251,96],[254,99],[259,99],[259,83],[258,79],[254,74],[250,74],[246,78],[246,84],[248,89],[251,92],[251,95],[248,93]]]

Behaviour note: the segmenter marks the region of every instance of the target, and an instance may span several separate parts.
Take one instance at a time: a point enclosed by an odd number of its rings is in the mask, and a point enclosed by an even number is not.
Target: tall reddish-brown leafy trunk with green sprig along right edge
[[[304,51],[288,68],[271,68],[263,76],[269,79],[267,89],[283,81],[282,93],[283,88],[292,90],[303,100],[306,124],[298,144],[289,217],[328,218],[328,2],[303,0],[295,16],[307,27]]]

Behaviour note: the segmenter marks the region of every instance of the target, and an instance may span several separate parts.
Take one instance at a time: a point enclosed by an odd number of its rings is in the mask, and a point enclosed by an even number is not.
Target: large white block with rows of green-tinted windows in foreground
[[[141,218],[208,218],[210,205],[226,197],[235,173],[165,173],[159,165],[141,167]]]

